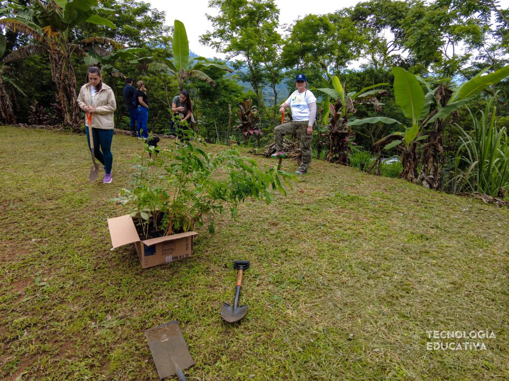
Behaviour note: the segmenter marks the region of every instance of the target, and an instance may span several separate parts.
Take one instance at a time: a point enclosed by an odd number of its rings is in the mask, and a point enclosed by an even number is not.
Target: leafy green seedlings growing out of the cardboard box
[[[271,190],[286,195],[284,185],[293,178],[274,167],[261,169],[235,148],[212,155],[191,141],[157,155],[154,147],[145,145],[135,161],[132,187],[111,201],[131,205],[131,216],[138,217],[145,238],[149,232],[153,236],[153,230],[158,236],[191,231],[202,226],[206,216],[214,232],[214,214],[229,209],[235,218],[238,205],[247,198],[269,204]]]

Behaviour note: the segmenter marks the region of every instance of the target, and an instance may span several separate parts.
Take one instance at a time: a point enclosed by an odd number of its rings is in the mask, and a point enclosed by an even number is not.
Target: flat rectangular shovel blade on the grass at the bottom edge
[[[159,378],[177,375],[180,381],[187,381],[182,371],[194,365],[194,361],[177,321],[150,328],[145,331],[145,336]]]

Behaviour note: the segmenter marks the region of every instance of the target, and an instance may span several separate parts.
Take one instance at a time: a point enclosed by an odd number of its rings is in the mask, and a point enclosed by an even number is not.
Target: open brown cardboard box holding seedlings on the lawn
[[[197,235],[195,232],[187,232],[143,241],[139,239],[129,214],[108,218],[108,228],[113,248],[134,243],[144,269],[188,258],[192,253],[193,238]]]

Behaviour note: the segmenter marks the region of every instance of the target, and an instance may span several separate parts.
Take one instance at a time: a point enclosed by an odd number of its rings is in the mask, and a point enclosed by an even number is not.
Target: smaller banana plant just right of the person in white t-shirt
[[[389,92],[385,89],[375,89],[388,83],[378,83],[364,87],[359,91],[346,92],[337,76],[332,77],[333,88],[319,88],[317,90],[326,94],[323,104],[322,123],[326,125],[325,136],[329,143],[327,161],[332,163],[349,164],[349,154],[355,145],[355,132],[351,128],[353,124],[348,122],[348,116],[355,114],[355,106],[360,103],[371,103],[375,110],[380,112],[382,107],[378,97],[387,97]],[[334,100],[334,104],[330,99]],[[330,117],[330,118],[329,118]]]

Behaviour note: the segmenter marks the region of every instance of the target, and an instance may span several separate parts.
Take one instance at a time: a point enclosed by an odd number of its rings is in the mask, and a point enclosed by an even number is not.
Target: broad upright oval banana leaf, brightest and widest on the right
[[[416,125],[425,105],[425,96],[419,81],[414,74],[402,68],[392,68],[392,73],[396,104],[401,107],[407,118],[412,119],[412,125]]]

